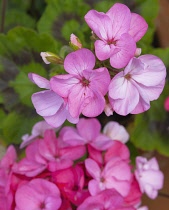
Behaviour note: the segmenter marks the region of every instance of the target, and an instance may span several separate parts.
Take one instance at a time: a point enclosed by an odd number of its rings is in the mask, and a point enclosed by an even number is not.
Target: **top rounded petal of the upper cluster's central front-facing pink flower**
[[[94,65],[94,54],[85,48],[69,53],[64,60],[65,70],[72,75],[81,75],[83,70],[91,70]]]

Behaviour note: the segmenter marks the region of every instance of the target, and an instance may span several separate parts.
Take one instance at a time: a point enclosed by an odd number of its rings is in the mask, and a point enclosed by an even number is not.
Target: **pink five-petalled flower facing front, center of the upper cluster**
[[[68,109],[74,118],[81,113],[96,117],[104,110],[110,75],[106,68],[93,70],[94,66],[93,53],[83,48],[65,58],[64,68],[69,74],[51,78],[52,90],[68,99]]]

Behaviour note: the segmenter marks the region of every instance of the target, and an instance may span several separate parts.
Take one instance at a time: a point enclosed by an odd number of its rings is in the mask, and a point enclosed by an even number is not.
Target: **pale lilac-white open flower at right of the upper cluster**
[[[166,77],[163,62],[153,55],[130,60],[109,85],[109,100],[120,115],[138,114],[150,108],[150,101],[161,94]]]

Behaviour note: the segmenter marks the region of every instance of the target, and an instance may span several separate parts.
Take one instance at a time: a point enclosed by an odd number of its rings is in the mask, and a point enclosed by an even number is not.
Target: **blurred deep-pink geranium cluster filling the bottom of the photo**
[[[143,193],[154,199],[162,188],[155,158],[139,156],[136,168],[131,165],[124,144],[129,135],[117,122],[101,132],[97,119],[81,118],[76,128],[63,127],[57,136],[44,126],[39,122],[24,136],[25,157],[17,160],[9,146],[2,158],[0,209],[147,210],[139,207]],[[38,132],[43,136],[34,135]]]

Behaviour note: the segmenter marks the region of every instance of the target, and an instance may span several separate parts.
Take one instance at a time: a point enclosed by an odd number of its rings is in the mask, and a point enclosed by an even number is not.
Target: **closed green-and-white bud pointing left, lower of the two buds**
[[[49,63],[63,64],[63,59],[54,53],[41,52],[40,55],[46,64],[49,64]]]

